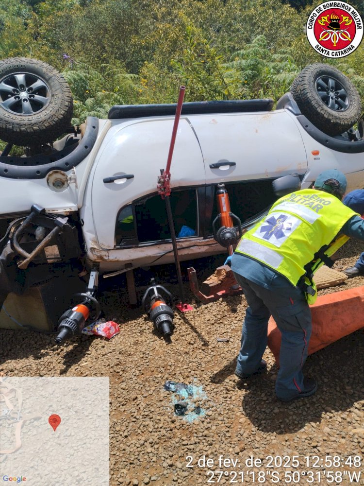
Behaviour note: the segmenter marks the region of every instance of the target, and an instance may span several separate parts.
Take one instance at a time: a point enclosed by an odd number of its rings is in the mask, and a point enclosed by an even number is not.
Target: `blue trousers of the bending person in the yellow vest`
[[[272,315],[282,336],[276,395],[294,398],[303,390],[302,366],[312,329],[305,295],[289,282],[285,287],[268,290],[239,274],[234,276],[248,303],[236,371],[245,374],[257,370],[267,346],[268,320]]]

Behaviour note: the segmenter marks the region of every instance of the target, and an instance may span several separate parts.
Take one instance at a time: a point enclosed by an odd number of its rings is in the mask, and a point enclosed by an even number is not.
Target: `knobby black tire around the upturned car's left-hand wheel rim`
[[[47,86],[46,102],[44,106],[38,105],[31,114],[15,113],[15,109],[22,108],[14,108],[13,102],[8,109],[3,105],[6,96],[9,98],[15,96],[10,92],[6,95],[6,87],[3,91],[5,95],[0,95],[0,139],[23,146],[54,141],[71,126],[73,102],[69,86],[64,77],[49,64],[36,59],[14,57],[0,61],[0,87],[7,86],[7,83],[1,85],[3,81],[14,80],[12,75],[23,73],[26,74],[24,79],[30,80],[30,85],[37,78]],[[28,96],[27,90],[23,91],[24,97]],[[36,91],[33,93],[37,95]],[[27,100],[28,103],[30,104]]]

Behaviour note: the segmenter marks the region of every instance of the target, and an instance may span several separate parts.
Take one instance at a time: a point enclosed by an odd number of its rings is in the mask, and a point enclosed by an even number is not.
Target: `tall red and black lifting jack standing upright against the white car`
[[[174,143],[176,141],[178,123],[180,121],[185,89],[186,88],[184,86],[180,87],[180,94],[179,94],[179,97],[178,97],[177,108],[176,108],[176,116],[175,116],[175,119],[174,119],[173,129],[172,129],[171,143],[169,145],[167,165],[165,167],[165,170],[163,170],[163,169],[161,170],[161,175],[158,176],[158,182],[157,182],[158,194],[160,194],[162,199],[165,200],[165,208],[167,210],[168,225],[169,225],[169,230],[171,232],[174,261],[176,263],[177,278],[178,278],[178,285],[179,285],[179,288],[180,288],[180,298],[181,298],[180,303],[177,304],[176,307],[181,312],[192,311],[193,307],[188,305],[185,301],[185,298],[184,298],[181,264],[180,264],[180,259],[179,259],[179,256],[178,256],[177,239],[176,239],[176,232],[175,232],[175,229],[174,229],[171,202],[169,200],[169,196],[170,196],[170,193],[171,193],[171,188],[170,188],[171,174],[170,174],[169,170],[170,170],[171,162],[172,162]]]

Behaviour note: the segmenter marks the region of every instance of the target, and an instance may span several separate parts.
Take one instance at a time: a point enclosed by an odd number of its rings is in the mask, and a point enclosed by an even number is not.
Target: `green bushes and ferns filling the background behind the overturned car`
[[[311,62],[337,66],[364,99],[364,48],[331,60],[305,35],[307,0],[0,0],[1,57],[61,70],[74,123],[113,104],[272,97]],[[363,14],[361,1],[351,2]]]

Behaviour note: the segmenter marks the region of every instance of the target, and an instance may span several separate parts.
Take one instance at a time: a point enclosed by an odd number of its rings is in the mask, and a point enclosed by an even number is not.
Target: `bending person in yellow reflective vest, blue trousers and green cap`
[[[243,235],[232,256],[232,271],[244,290],[248,309],[235,375],[246,379],[265,372],[270,315],[281,331],[276,395],[290,401],[313,395],[316,382],[303,376],[311,336],[316,288],[314,271],[348,237],[364,241],[364,221],[341,200],[347,187],[337,170],[321,173],[312,189],[281,197],[268,214]]]

